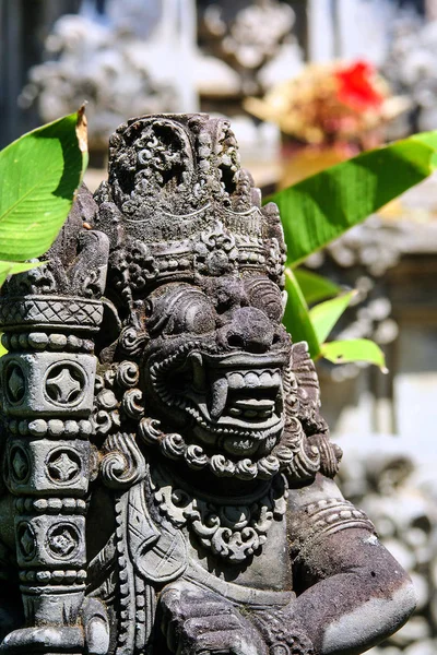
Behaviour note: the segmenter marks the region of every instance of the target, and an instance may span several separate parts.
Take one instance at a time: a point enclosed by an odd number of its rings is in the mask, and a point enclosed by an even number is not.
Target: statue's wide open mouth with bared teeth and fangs
[[[194,433],[205,443],[223,442],[235,454],[271,446],[282,433],[283,369],[286,350],[211,355],[193,349],[153,364],[150,379],[160,398],[194,419]],[[233,445],[226,448],[226,442]]]

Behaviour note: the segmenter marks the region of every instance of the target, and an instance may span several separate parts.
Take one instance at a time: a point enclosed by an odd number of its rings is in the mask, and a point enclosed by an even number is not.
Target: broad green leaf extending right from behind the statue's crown
[[[287,263],[311,252],[379,210],[437,168],[437,131],[366,152],[265,199],[279,205]]]

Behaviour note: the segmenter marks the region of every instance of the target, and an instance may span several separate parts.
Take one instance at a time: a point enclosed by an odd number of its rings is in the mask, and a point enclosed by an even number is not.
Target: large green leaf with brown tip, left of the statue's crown
[[[0,152],[0,260],[46,252],[67,218],[86,163],[83,109]]]

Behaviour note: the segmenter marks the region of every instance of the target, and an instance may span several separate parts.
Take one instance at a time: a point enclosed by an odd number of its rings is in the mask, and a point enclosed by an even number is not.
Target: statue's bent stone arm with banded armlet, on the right
[[[412,582],[332,480],[318,475],[290,501],[293,611],[318,655],[363,653],[408,620]]]

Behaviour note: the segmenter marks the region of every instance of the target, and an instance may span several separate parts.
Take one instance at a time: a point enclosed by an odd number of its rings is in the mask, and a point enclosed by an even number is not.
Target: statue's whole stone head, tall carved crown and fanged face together
[[[120,126],[96,198],[119,356],[142,369],[145,416],[208,456],[259,463],[284,428],[285,245],[228,123],[175,115]]]

